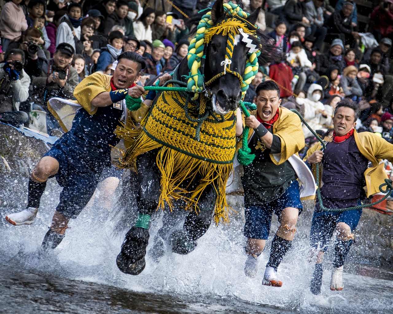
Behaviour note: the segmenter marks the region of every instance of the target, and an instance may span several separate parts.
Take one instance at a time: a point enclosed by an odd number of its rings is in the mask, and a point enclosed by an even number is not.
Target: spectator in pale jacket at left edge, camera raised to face
[[[24,111],[19,111],[19,105],[29,97],[30,78],[23,70],[24,51],[8,50],[6,62],[0,63],[0,120],[4,123],[19,127],[29,121]]]

